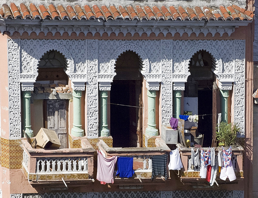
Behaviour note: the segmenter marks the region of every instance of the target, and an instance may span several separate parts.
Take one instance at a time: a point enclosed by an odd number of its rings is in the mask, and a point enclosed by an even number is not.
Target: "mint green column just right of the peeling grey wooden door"
[[[82,105],[81,97],[82,91],[73,90],[73,104],[74,104],[74,123],[71,129],[71,134],[76,137],[82,137],[84,135],[84,130],[82,129]]]

